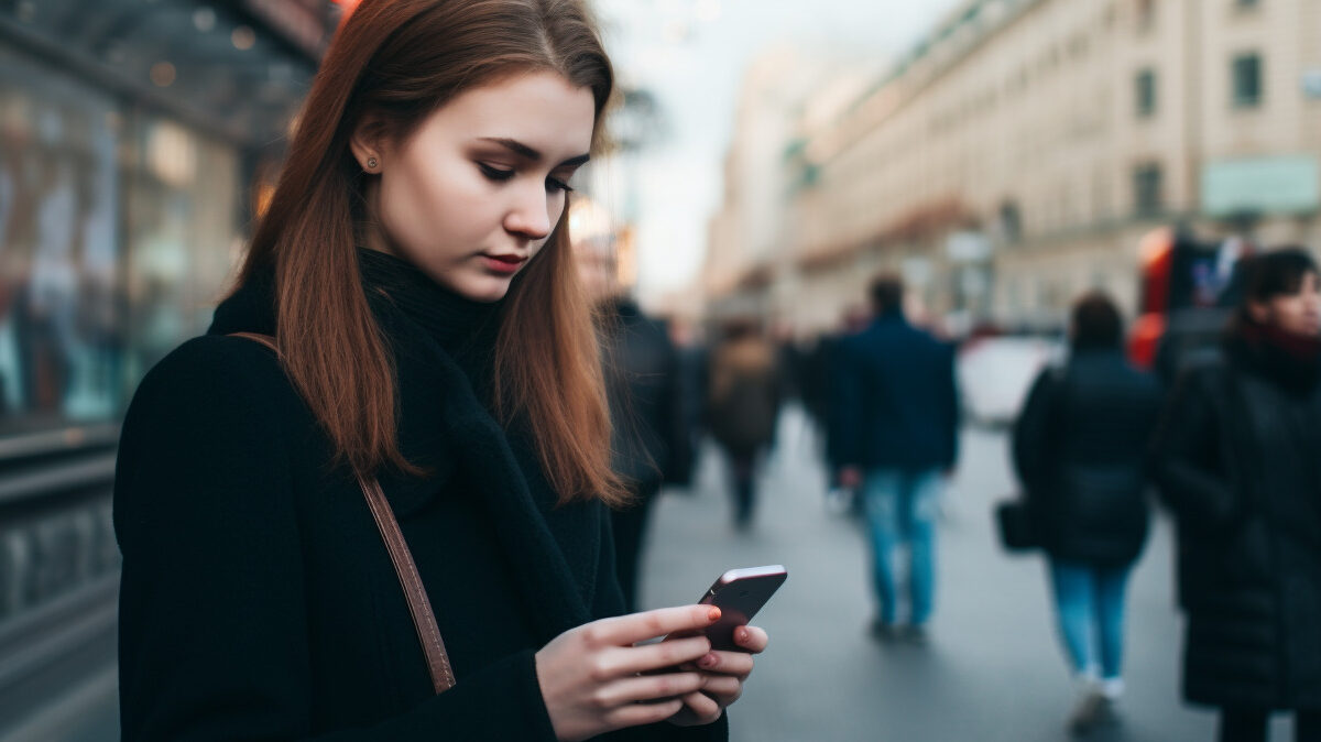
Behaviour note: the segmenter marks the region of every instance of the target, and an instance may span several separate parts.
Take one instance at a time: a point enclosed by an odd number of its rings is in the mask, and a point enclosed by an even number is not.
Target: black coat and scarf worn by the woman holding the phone
[[[395,353],[402,453],[432,471],[379,481],[457,685],[433,694],[363,495],[275,355],[226,337],[275,330],[266,276],[147,375],[124,421],[124,739],[551,741],[535,651],[621,611],[605,507],[556,507],[526,425],[489,413],[498,308],[359,260]],[[610,738],[725,735],[721,720]]]

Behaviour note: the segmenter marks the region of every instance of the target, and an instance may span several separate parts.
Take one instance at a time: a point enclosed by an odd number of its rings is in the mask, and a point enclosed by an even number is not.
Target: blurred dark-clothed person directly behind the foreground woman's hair
[[[596,304],[605,347],[612,467],[629,502],[610,512],[624,606],[637,610],[638,576],[651,506],[663,483],[687,482],[691,442],[679,354],[667,327],[642,313],[618,281],[614,242],[576,242],[579,276]]]

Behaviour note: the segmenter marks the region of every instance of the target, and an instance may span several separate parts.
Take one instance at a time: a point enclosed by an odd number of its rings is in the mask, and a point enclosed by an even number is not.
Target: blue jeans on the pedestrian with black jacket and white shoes
[[[1115,679],[1124,652],[1124,588],[1129,566],[1050,561],[1059,639],[1074,672]]]

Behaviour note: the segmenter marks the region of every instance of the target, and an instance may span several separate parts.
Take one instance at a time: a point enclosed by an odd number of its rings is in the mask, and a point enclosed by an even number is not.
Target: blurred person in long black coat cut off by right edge
[[[1321,739],[1321,293],[1303,250],[1250,257],[1223,359],[1186,368],[1156,474],[1178,519],[1184,697],[1222,742],[1272,712]]]

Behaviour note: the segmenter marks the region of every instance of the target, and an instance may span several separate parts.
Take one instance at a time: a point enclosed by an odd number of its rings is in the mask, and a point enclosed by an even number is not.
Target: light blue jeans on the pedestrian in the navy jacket
[[[900,544],[909,552],[909,621],[931,618],[935,594],[935,516],[941,473],[876,469],[863,482],[863,504],[872,537],[872,580],[880,619],[894,623],[897,598],[892,556]]]

